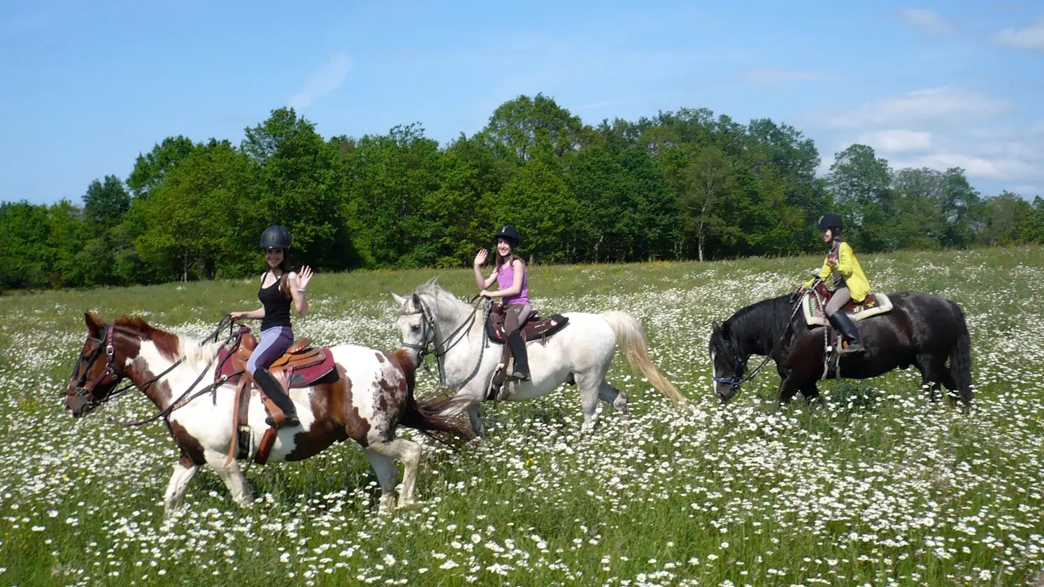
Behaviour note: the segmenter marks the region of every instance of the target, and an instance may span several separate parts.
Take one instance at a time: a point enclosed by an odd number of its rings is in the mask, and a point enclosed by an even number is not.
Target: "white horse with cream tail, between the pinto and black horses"
[[[421,285],[405,297],[392,295],[400,305],[398,324],[403,346],[414,351],[418,365],[426,354],[433,353],[447,387],[456,391],[452,397],[433,402],[430,409],[445,417],[467,411],[475,434],[484,438],[478,405],[488,398],[502,347],[489,341],[483,313],[433,282]],[[563,316],[569,318],[569,323],[548,338],[546,345],[537,341],[526,344],[530,378],[507,380],[505,400],[532,399],[563,383],[575,383],[584,413],[582,430],[597,425],[595,409],[599,398],[625,418],[626,393],[606,381],[619,345],[632,369],[645,375],[652,387],[675,403],[686,401],[649,362],[645,333],[634,317],[618,311],[569,312]]]

